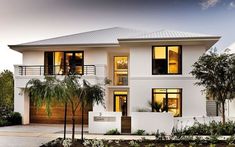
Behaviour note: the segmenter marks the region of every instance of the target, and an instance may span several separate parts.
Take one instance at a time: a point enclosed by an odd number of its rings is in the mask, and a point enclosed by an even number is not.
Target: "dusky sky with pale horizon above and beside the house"
[[[220,50],[235,42],[235,0],[0,0],[0,71],[22,63],[9,44],[116,26],[219,35]]]

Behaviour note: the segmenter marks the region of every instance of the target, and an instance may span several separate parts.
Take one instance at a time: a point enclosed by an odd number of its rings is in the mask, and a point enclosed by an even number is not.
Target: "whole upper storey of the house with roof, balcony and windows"
[[[15,66],[15,75],[80,74],[108,77],[114,85],[128,85],[129,77],[190,76],[193,63],[220,38],[173,31],[159,31],[147,35],[147,39],[146,35],[125,38],[125,31],[128,30],[100,30],[98,34],[92,34],[93,42],[87,38],[88,32],[85,37],[78,34],[77,37],[65,36],[60,40],[12,45],[12,49],[23,54],[23,64]],[[124,37],[115,36],[117,32]],[[106,42],[101,43],[96,37],[112,34],[116,42],[108,42],[106,38]],[[88,43],[79,44],[79,39],[86,38]],[[94,43],[94,38],[97,43]],[[75,39],[78,39],[77,44],[71,42]]]

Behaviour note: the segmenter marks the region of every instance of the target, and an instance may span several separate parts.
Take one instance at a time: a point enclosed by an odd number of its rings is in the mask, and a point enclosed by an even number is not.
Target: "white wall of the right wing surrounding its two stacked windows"
[[[205,52],[203,46],[182,46],[182,75],[152,75],[152,46],[130,49],[130,111],[146,108],[152,88],[182,88],[182,116],[205,116],[206,98],[189,74]]]

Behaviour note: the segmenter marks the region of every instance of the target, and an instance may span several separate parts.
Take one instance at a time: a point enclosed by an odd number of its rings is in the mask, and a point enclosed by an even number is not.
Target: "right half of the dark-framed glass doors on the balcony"
[[[66,52],[65,62],[67,74],[83,75],[83,52]]]

